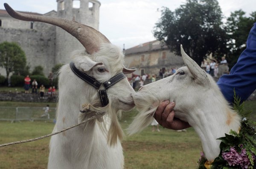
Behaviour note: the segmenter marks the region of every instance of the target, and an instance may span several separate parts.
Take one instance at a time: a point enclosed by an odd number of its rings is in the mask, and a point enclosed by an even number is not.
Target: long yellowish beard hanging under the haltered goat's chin
[[[89,121],[85,125],[85,128],[88,124],[97,122],[99,124],[100,129],[107,134],[107,141],[110,146],[116,145],[118,139],[119,141],[122,141],[124,137],[124,133],[118,121],[118,118],[121,117],[122,111],[115,109],[115,107],[112,105],[111,99],[109,100],[108,105],[105,107],[101,107],[101,102],[99,99],[97,99],[96,101],[93,101],[90,104],[84,104],[83,111],[85,111],[85,113],[88,112],[90,116],[93,116],[95,114],[97,115],[99,113],[104,113],[104,114],[106,113],[105,117],[100,116],[100,117],[97,117],[96,119],[93,119],[93,121],[91,122]],[[84,113],[80,113],[79,121],[83,121],[84,118],[85,118]],[[88,116],[86,118],[88,118]],[[109,128],[108,128],[109,124],[106,124],[103,118],[110,119],[110,120],[107,120],[107,122],[110,121]]]

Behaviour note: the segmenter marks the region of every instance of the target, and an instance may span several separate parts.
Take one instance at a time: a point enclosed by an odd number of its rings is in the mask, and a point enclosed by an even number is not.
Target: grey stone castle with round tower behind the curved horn
[[[75,3],[79,2],[78,6]],[[57,11],[46,14],[23,12],[50,17],[62,17],[99,29],[98,0],[57,0]],[[6,10],[0,9],[0,43],[17,42],[26,54],[27,65],[33,70],[41,65],[46,76],[54,65],[70,62],[74,50],[84,49],[81,43],[66,31],[47,23],[16,20]],[[6,75],[3,68],[1,75]]]

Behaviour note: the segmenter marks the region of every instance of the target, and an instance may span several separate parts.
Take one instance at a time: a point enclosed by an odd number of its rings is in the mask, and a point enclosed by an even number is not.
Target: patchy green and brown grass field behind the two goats
[[[253,110],[251,119],[256,120],[256,101],[245,102],[247,110]],[[27,106],[29,103],[0,102],[0,106]],[[31,107],[44,107],[36,103]],[[50,107],[55,104],[50,105]],[[122,128],[128,127],[136,110],[123,113]],[[54,124],[44,121],[0,122],[0,144],[39,137],[52,132]],[[125,169],[196,169],[200,157],[201,142],[193,130],[176,132],[160,127],[152,132],[147,127],[143,132],[126,136],[122,142]],[[0,169],[46,169],[49,154],[49,138],[0,148]]]

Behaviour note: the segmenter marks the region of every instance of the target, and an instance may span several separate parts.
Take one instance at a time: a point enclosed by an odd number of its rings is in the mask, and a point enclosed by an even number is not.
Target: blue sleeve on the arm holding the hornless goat
[[[245,101],[256,89],[256,23],[251,28],[246,49],[230,70],[229,75],[222,75],[217,82],[224,97],[228,102],[233,102],[233,90],[236,95]]]

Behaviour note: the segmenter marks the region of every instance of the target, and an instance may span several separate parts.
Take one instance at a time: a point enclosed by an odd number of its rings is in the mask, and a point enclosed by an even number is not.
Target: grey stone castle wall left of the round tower
[[[14,29],[0,27],[0,43],[17,42],[26,54],[27,65],[33,70],[35,66],[41,65],[45,75],[49,75],[55,65],[55,26],[38,23],[41,30]],[[6,72],[0,72],[6,75]]]

